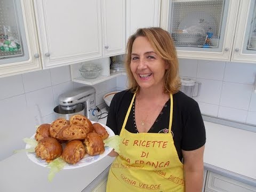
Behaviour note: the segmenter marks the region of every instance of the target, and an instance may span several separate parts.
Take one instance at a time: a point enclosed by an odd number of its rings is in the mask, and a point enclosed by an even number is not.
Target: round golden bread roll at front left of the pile
[[[36,156],[51,162],[62,154],[62,146],[55,138],[44,138],[38,141],[35,148]]]

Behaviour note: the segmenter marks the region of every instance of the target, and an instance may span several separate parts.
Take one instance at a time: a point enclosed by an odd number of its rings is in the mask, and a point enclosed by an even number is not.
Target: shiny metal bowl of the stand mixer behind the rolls
[[[70,119],[71,116],[73,115],[85,115],[85,105],[83,103],[78,103],[77,105],[73,106],[73,107],[63,107],[63,106],[56,106],[53,109],[56,118],[65,118],[67,120]]]

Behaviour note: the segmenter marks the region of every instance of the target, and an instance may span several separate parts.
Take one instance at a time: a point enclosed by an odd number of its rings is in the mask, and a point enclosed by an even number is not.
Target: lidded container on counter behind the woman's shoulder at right
[[[197,89],[196,89],[197,88]],[[189,97],[197,97],[199,96],[201,90],[201,83],[196,82],[190,78],[182,78],[181,79],[181,87],[180,91],[188,95]]]

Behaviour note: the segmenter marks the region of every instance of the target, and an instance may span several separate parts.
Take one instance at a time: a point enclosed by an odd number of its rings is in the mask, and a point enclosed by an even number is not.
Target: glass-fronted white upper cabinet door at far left
[[[33,2],[0,1],[0,77],[41,69]]]

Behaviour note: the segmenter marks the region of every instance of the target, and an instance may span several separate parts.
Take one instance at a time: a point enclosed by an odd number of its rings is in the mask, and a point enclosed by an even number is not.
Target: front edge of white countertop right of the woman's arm
[[[207,163],[204,163],[204,169],[207,170],[207,171],[211,171],[213,173],[220,174],[223,177],[234,179],[236,181],[239,181],[239,182],[245,183],[247,185],[256,187],[256,179],[252,179],[252,178],[246,177],[244,175],[237,174],[237,173],[234,173],[234,172],[231,172],[231,171],[228,171],[228,170],[225,170],[225,169],[222,169],[220,167],[210,165],[210,164],[207,164]]]

